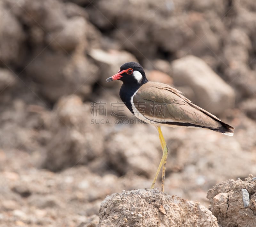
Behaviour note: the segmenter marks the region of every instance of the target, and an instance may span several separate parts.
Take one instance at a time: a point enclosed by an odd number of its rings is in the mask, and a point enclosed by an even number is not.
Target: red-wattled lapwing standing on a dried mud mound
[[[163,166],[162,192],[164,192],[168,148],[161,125],[206,128],[233,136],[234,128],[232,126],[193,104],[177,89],[163,83],[149,82],[142,66],[137,62],[123,64],[120,71],[109,77],[106,82],[116,79],[123,81],[119,95],[127,108],[142,121],[156,126],[159,133],[163,156],[151,188],[154,188],[156,178]]]

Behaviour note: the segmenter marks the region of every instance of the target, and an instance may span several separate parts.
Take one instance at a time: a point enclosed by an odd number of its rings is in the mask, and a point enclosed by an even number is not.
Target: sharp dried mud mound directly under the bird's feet
[[[98,226],[218,226],[212,213],[198,202],[156,189],[134,189],[108,196],[100,206]]]

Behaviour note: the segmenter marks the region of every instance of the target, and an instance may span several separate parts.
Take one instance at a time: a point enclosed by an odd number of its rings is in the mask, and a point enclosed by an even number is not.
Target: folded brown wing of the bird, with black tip
[[[148,82],[140,87],[133,97],[133,102],[136,109],[150,120],[168,125],[199,126],[233,132],[233,127],[196,106],[180,93],[166,84]]]

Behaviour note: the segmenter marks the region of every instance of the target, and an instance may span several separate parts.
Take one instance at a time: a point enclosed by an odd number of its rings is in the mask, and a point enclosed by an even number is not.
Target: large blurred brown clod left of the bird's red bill
[[[82,53],[67,55],[45,49],[28,65],[26,73],[35,80],[44,97],[56,102],[61,96],[71,94],[89,97],[98,77],[98,67],[88,62]]]

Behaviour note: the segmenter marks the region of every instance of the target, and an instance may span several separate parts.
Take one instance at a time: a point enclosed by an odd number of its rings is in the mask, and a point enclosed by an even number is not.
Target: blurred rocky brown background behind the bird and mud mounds
[[[208,207],[255,174],[255,21],[254,0],[1,0],[0,226],[97,225],[106,195],[150,187],[157,131],[105,83],[129,61],[236,128],[163,128],[167,193]]]

